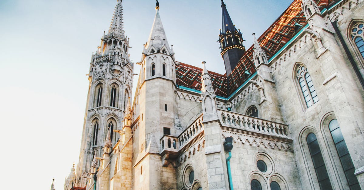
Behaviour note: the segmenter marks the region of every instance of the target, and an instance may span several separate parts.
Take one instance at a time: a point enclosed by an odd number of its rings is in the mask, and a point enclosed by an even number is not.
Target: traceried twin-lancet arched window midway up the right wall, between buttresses
[[[314,103],[318,102],[316,90],[313,86],[311,76],[307,71],[307,68],[303,65],[298,66],[296,70],[296,79],[301,88],[303,97],[305,99],[306,106],[309,108]]]

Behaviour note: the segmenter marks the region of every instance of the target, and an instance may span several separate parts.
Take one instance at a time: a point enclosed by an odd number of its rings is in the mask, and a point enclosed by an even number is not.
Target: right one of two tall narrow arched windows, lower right
[[[331,120],[331,122],[329,123],[329,129],[350,189],[360,189],[358,179],[354,175],[355,168],[353,165],[353,161],[350,157],[348,147],[346,146],[343,134],[340,130],[339,123],[336,119]]]

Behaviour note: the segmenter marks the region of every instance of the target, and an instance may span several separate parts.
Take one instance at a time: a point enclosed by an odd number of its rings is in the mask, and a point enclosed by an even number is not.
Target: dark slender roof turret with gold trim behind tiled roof
[[[233,21],[227,12],[226,5],[221,0],[222,8],[222,28],[219,34],[219,43],[221,56],[225,63],[226,75],[229,75],[245,53],[243,45],[243,36],[240,30],[237,30]]]

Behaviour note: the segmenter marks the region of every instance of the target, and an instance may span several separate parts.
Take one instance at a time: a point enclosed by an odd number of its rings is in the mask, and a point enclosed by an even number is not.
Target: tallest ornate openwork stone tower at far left
[[[104,32],[100,46],[91,56],[86,114],[74,184],[76,187],[85,187],[92,173],[91,165],[100,165],[99,159],[95,158],[102,157],[104,153],[108,131],[111,146],[120,138],[114,130],[123,127],[133,80],[134,64],[129,59],[128,44],[129,39],[123,29],[122,0],[118,0],[110,28],[107,33]]]

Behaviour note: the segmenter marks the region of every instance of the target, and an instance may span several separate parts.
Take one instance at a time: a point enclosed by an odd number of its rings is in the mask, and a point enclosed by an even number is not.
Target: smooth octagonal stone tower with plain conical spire
[[[132,126],[134,189],[177,189],[173,163],[160,154],[163,135],[177,136],[181,130],[176,116],[174,52],[159,13],[157,1],[153,26],[138,63],[141,71],[133,105],[136,124]]]

